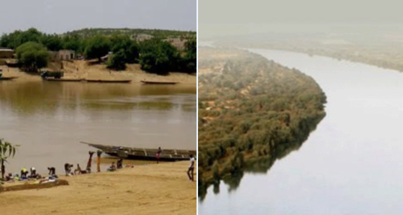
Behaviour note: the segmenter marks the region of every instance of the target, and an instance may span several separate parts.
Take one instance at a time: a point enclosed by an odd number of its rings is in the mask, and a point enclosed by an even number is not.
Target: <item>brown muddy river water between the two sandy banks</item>
[[[80,141],[196,150],[196,93],[192,84],[1,81],[0,138],[21,145],[6,172],[85,168],[95,148]]]

